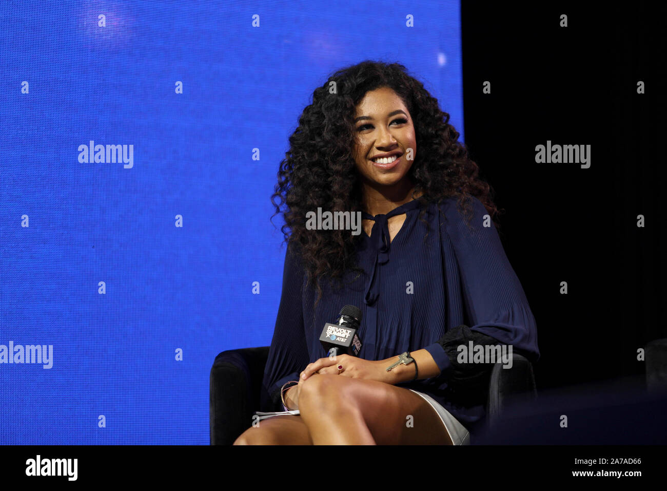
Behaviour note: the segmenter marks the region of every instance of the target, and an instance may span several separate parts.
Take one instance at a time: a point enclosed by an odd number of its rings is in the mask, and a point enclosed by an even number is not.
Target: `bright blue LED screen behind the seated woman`
[[[0,24],[0,444],[209,443],[215,355],[271,341],[269,198],[336,69],[406,65],[464,140],[458,2],[5,2]]]

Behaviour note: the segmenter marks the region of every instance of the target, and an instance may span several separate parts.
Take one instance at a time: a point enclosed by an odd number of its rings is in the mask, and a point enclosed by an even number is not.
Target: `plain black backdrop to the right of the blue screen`
[[[466,145],[506,210],[500,236],[538,326],[538,391],[639,377],[637,349],[667,337],[667,11],[648,5],[462,3]],[[547,140],[590,144],[590,168],[536,163]]]

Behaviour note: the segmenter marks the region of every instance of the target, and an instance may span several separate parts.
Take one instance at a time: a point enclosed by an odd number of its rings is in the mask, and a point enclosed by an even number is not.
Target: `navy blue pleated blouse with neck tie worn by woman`
[[[530,361],[540,357],[535,319],[486,208],[471,196],[470,228],[448,198],[440,206],[410,201],[375,220],[371,236],[362,232],[358,266],[364,274],[344,277],[344,287],[321,282],[322,297],[313,309],[315,289],[306,285],[299,255],[288,247],[275,331],[265,367],[262,406],[282,410],[280,389],[297,380],[308,363],[327,357],[319,335],[335,322],[344,305],[362,310],[360,357],[391,358],[426,349],[441,372],[436,377],[397,384],[428,393],[470,432],[484,418],[488,363],[458,363],[457,347],[512,345]],[[394,240],[387,219],[406,213]],[[428,232],[428,233],[427,233]],[[266,400],[269,397],[269,400]]]

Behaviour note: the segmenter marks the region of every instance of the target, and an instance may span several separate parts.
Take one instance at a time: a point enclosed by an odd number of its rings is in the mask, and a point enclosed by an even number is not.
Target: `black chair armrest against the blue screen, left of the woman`
[[[259,410],[269,347],[230,349],[213,361],[209,385],[211,445],[231,445]]]

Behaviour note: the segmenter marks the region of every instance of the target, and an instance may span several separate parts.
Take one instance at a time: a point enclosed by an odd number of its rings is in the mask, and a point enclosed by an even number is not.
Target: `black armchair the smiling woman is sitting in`
[[[211,445],[231,445],[252,424],[259,411],[264,365],[269,347],[230,349],[219,353],[211,367],[209,417]],[[492,426],[510,401],[537,396],[532,363],[512,353],[512,368],[494,365],[486,401],[487,424]]]

